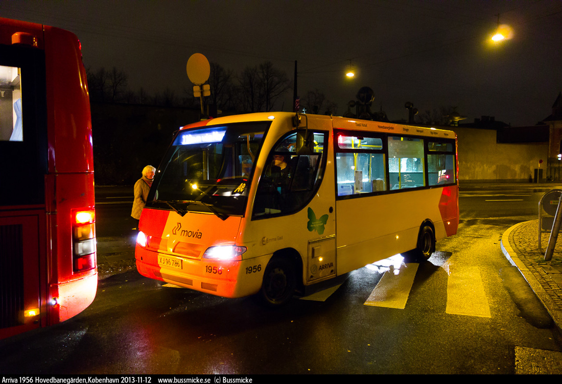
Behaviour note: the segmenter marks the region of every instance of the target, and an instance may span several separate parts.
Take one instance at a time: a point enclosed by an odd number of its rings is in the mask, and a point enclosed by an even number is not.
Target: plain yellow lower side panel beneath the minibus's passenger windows
[[[437,237],[443,237],[441,195],[442,189],[435,188],[338,200],[338,275],[416,248],[424,220],[432,221]]]

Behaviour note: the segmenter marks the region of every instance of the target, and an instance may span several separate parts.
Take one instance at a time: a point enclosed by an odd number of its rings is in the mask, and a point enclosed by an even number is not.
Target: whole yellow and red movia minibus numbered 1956
[[[454,132],[293,113],[180,129],[139,223],[138,271],[280,305],[456,233]],[[406,130],[406,131],[404,131]]]

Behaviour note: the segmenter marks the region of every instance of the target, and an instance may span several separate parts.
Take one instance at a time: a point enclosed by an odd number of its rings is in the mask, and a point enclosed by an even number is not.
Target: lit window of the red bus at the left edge
[[[0,65],[0,141],[23,141],[20,68]]]

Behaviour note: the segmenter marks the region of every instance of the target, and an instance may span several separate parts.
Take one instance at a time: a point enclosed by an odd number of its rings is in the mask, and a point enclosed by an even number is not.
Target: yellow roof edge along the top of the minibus
[[[413,136],[428,136],[437,138],[455,139],[456,134],[450,130],[437,129],[434,127],[421,127],[413,125],[396,124],[383,121],[360,120],[355,118],[338,117],[338,116],[325,116],[325,115],[308,115],[304,113],[298,114],[301,117],[300,127],[305,127],[306,124],[314,120],[332,120],[332,127],[334,129],[346,129],[353,131],[368,131],[368,132],[387,132],[391,134],[400,135],[413,135]],[[204,127],[207,125],[219,124],[232,124],[237,122],[248,121],[268,121],[279,119],[289,119],[295,116],[294,112],[258,112],[247,113],[243,115],[232,115],[217,118],[210,118],[208,120],[198,121],[193,124],[188,124],[180,128],[192,129],[196,127]]]

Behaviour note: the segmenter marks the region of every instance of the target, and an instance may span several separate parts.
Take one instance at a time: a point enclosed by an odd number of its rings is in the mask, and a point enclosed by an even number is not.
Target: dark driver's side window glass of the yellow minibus
[[[315,153],[299,155],[296,133],[281,141],[268,156],[257,188],[252,217],[290,214],[300,211],[320,183],[324,135],[315,134]],[[319,142],[320,141],[320,142]]]

